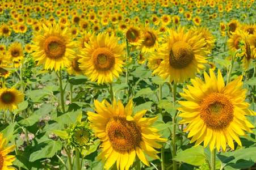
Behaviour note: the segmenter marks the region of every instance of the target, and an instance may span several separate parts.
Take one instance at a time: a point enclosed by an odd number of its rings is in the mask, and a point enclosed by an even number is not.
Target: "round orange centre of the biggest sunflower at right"
[[[221,129],[232,122],[234,106],[226,95],[213,92],[204,98],[199,112],[200,118],[209,128]]]

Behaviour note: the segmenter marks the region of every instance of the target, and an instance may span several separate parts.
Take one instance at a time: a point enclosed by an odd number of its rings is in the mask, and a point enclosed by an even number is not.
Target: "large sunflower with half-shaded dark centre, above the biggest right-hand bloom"
[[[185,27],[179,26],[177,32],[175,28],[167,28],[167,31],[170,36],[165,36],[167,43],[162,44],[159,53],[163,61],[155,73],[162,79],[170,76],[170,82],[195,78],[195,72],[205,69],[202,63],[207,63],[204,48],[207,42],[201,38],[202,34],[192,33],[191,29],[186,32]]]

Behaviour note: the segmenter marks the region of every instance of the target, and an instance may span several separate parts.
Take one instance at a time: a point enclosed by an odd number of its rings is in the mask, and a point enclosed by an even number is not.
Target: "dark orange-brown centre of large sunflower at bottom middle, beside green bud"
[[[111,117],[107,122],[106,133],[112,147],[119,151],[129,151],[139,146],[141,128],[135,121],[127,121],[125,117]]]

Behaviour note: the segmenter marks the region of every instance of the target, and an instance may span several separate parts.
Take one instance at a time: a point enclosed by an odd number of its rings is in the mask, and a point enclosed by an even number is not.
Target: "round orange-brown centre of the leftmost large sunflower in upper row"
[[[44,43],[44,51],[49,58],[60,58],[65,55],[66,44],[60,37],[50,36]]]

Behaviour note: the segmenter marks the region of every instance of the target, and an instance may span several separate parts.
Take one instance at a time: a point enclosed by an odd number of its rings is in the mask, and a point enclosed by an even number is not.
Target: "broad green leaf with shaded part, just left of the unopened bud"
[[[37,144],[32,147],[30,152],[30,162],[41,158],[52,158],[53,155],[59,150],[61,150],[62,144],[60,141],[53,141],[52,139],[47,139],[44,142]]]

